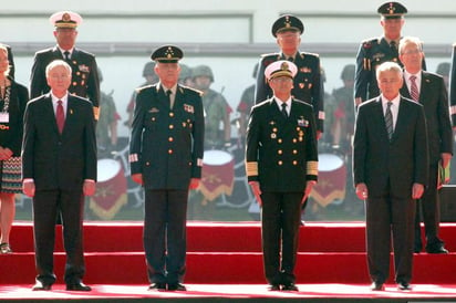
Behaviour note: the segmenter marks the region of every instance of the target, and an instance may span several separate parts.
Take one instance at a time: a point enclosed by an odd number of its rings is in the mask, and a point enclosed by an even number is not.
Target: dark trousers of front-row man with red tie
[[[80,190],[37,190],[33,198],[33,234],[37,280],[45,284],[55,282],[53,253],[55,217],[61,213],[66,252],[64,280],[79,283],[85,273],[83,251],[84,196]]]

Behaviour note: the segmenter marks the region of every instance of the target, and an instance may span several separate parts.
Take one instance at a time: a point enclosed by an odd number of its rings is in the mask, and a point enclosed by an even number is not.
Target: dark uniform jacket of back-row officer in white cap
[[[35,98],[50,91],[45,79],[45,67],[52,61],[63,60],[58,46],[35,53],[32,74],[30,76],[30,98]],[[100,81],[95,56],[74,48],[71,61],[66,62],[72,69],[70,93],[89,98],[93,106],[100,106]]]

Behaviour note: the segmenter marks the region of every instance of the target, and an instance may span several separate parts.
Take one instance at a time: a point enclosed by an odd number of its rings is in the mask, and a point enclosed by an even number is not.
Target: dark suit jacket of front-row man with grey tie
[[[414,182],[426,186],[428,152],[423,106],[401,97],[393,138],[387,137],[380,96],[359,107],[353,142],[354,184],[372,198],[410,198]]]

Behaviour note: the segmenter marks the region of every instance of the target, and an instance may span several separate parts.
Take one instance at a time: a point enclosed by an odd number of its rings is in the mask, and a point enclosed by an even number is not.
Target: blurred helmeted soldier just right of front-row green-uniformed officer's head
[[[222,94],[210,88],[214,74],[209,66],[199,65],[191,70],[195,88],[203,92],[205,107],[205,150],[221,149],[231,145],[231,107]]]

